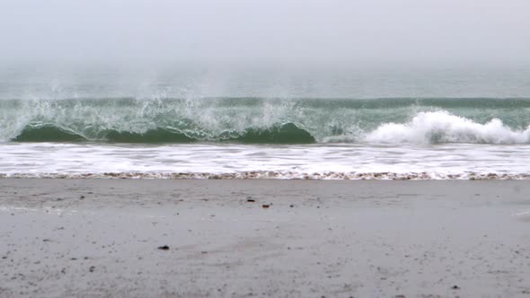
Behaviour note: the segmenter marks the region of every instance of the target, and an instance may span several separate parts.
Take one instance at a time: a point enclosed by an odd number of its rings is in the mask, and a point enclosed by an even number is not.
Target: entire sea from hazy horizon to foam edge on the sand
[[[0,72],[0,177],[530,179],[524,67],[103,68]]]

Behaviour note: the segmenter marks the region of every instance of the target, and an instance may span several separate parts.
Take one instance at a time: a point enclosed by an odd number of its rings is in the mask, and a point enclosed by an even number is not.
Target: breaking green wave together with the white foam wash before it
[[[0,177],[530,178],[526,99],[66,99],[0,105]]]

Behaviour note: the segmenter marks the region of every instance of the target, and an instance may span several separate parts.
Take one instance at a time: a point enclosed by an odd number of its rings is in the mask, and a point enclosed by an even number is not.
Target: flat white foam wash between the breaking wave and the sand
[[[530,179],[530,145],[0,145],[0,177]]]

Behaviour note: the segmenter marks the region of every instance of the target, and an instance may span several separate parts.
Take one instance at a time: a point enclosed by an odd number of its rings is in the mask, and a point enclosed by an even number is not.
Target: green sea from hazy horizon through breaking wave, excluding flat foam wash
[[[526,66],[11,66],[1,142],[528,143]]]

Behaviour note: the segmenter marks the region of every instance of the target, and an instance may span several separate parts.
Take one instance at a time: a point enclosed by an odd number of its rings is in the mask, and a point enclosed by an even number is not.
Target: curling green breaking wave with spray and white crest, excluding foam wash
[[[0,101],[0,141],[530,143],[527,99]]]

